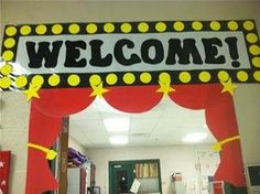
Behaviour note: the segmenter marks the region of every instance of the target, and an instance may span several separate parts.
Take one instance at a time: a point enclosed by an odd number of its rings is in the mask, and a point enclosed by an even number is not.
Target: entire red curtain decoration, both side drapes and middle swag
[[[169,96],[176,104],[189,109],[205,109],[208,128],[217,140],[238,134],[232,98],[229,94],[221,94],[221,85],[172,87],[176,90]],[[162,93],[156,93],[158,88],[159,86],[108,87],[109,91],[105,93],[104,97],[112,107],[121,111],[143,112],[158,105],[163,97]],[[91,88],[41,90],[41,98],[34,100],[31,106],[29,141],[52,147],[61,130],[62,117],[89,106],[94,100],[89,97],[90,94]],[[215,179],[227,181],[236,186],[245,186],[239,141],[225,144],[220,159]],[[40,194],[57,186],[43,153],[30,149],[28,165],[26,194]]]

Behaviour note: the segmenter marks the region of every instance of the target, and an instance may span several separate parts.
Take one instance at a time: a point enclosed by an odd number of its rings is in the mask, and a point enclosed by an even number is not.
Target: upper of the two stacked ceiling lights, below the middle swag
[[[129,118],[107,118],[104,120],[107,131],[120,132],[129,130]]]

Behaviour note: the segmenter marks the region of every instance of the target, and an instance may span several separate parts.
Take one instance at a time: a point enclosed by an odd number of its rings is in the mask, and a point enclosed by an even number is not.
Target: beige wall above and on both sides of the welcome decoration
[[[94,2],[94,1],[0,1],[0,39],[2,37],[2,26],[4,24],[22,24],[22,23],[52,23],[52,22],[87,22],[87,21],[137,21],[137,20],[217,20],[217,19],[254,19],[260,29],[260,2],[254,1],[152,1],[145,2]],[[1,40],[0,40],[1,42]],[[9,98],[13,94],[2,94],[2,98],[9,108],[2,111],[2,115],[12,111],[18,103],[17,111],[22,111],[24,118],[21,122],[24,125],[15,125],[20,118],[17,112],[10,115],[6,127],[0,129],[0,144],[2,149],[11,149],[14,151],[17,162],[13,164],[11,177],[11,194],[24,193],[25,169],[26,164],[23,160],[26,155],[25,143],[28,134],[28,110],[29,105],[25,103],[24,96],[19,96],[17,101]],[[7,97],[4,97],[7,96]],[[15,95],[14,95],[15,96]],[[241,133],[241,144],[245,163],[260,163],[258,139],[260,134],[260,84],[239,85],[235,94],[235,105],[238,118],[239,131]],[[7,106],[8,107],[8,106]],[[12,121],[11,121],[12,120]],[[2,125],[2,123],[1,123]],[[7,136],[7,131],[10,134]],[[15,139],[8,140],[8,139]],[[14,143],[15,142],[15,143]],[[19,150],[22,149],[23,150]],[[24,161],[24,162],[23,162]],[[22,172],[21,172],[22,171]],[[17,172],[17,173],[14,173]],[[13,174],[14,173],[14,174]],[[14,192],[15,190],[15,192]]]

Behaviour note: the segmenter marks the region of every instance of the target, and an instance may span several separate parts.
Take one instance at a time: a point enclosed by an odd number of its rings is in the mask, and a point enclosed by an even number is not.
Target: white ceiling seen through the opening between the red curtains
[[[130,130],[127,147],[185,144],[182,139],[191,132],[207,132],[208,137],[199,143],[215,142],[206,127],[204,110],[189,110],[164,98],[144,114],[124,114],[109,106],[104,99],[96,100],[82,112],[69,117],[69,133],[86,148],[107,148],[110,133],[104,119],[129,117]]]

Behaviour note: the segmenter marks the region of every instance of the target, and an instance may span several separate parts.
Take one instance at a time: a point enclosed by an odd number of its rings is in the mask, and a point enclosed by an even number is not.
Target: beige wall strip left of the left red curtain
[[[11,150],[10,193],[24,193],[30,104],[19,93],[0,93],[0,150]]]

